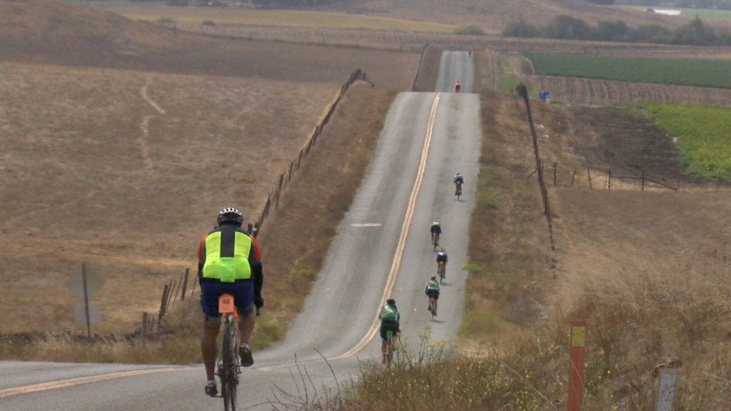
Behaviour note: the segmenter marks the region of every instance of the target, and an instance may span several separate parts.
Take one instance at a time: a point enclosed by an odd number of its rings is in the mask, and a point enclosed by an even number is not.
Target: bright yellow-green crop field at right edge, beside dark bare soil
[[[731,181],[731,109],[664,104],[637,107],[677,138],[683,165],[690,175]]]

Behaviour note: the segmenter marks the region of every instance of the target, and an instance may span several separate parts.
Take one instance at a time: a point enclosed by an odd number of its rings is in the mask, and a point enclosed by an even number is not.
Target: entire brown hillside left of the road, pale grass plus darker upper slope
[[[55,0],[0,14],[0,333],[76,329],[64,282],[83,262],[105,279],[95,331],[132,332],[194,269],[221,207],[259,215],[353,69],[403,90],[419,61],[199,37]]]

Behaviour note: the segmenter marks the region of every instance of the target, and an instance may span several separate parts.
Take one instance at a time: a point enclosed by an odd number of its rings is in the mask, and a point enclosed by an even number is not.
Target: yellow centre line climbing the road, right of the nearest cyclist
[[[401,234],[398,236],[398,245],[396,246],[396,252],[393,254],[393,261],[391,262],[391,269],[388,272],[388,278],[386,279],[386,287],[383,290],[383,295],[381,296],[381,305],[383,305],[386,302],[386,299],[390,297],[391,293],[393,292],[393,286],[396,282],[396,274],[398,274],[398,268],[401,265],[401,258],[404,256],[404,248],[406,247],[406,238],[409,235],[409,227],[411,227],[411,220],[414,216],[414,208],[416,208],[416,198],[419,195],[419,189],[421,187],[421,182],[424,178],[424,170],[426,169],[426,160],[428,158],[429,154],[429,145],[431,144],[431,136],[433,135],[433,129],[434,129],[434,121],[436,119],[436,107],[439,104],[439,99],[442,97],[442,94],[436,94],[436,97],[434,97],[434,102],[431,105],[431,113],[429,113],[429,124],[426,129],[426,137],[424,139],[424,146],[421,149],[421,160],[419,162],[419,170],[416,176],[416,180],[414,181],[414,188],[412,189],[411,197],[409,197],[409,206],[406,207],[406,216],[404,218],[404,224],[401,225]],[[373,320],[373,323],[371,323],[371,328],[368,329],[368,333],[366,333],[365,336],[363,336],[363,339],[360,340],[357,344],[355,344],[355,347],[352,347],[350,350],[342,353],[341,355],[336,355],[335,357],[327,358],[327,361],[336,361],[336,360],[342,360],[343,358],[351,357],[352,355],[357,354],[360,352],[360,350],[363,350],[364,347],[368,344],[368,342],[371,342],[371,340],[376,336],[376,333],[379,330],[379,320],[378,316],[376,316]],[[307,364],[307,363],[314,363],[319,360],[313,360],[313,361],[304,361],[300,364]],[[293,366],[295,363],[281,363],[277,364],[275,366],[265,366],[259,368],[262,371],[269,371],[273,369],[279,369],[284,368],[288,366]]]

